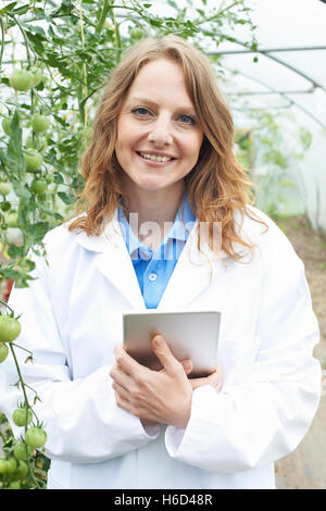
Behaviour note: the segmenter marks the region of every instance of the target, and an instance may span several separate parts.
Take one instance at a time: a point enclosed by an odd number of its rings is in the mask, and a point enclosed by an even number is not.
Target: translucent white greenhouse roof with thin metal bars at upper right
[[[226,74],[237,72],[226,92],[246,96],[250,108],[294,107],[326,128],[326,3],[321,0],[264,0],[251,14],[258,51],[243,46],[242,26],[216,51]],[[258,57],[258,62],[254,62]]]

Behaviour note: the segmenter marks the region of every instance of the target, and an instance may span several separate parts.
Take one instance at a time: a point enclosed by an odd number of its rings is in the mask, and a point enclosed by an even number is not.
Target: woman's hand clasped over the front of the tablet
[[[118,407],[142,420],[142,424],[171,424],[186,428],[191,410],[192,386],[187,378],[192,364],[176,360],[162,336],[153,338],[153,351],[163,365],[152,371],[116,346],[116,364],[110,371]]]

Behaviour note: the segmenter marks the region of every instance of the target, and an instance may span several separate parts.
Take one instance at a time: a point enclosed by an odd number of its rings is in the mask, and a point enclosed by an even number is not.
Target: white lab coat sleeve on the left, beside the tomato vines
[[[96,463],[138,449],[158,436],[150,434],[139,419],[115,403],[110,367],[102,366],[85,378],[71,378],[64,349],[49,299],[46,265],[37,258],[35,281],[28,288],[13,289],[10,306],[22,313],[22,333],[15,340],[33,352],[34,363],[25,362],[26,351],[15,349],[25,383],[40,397],[34,410],[48,435],[46,453],[50,459],[74,463]],[[24,428],[12,422],[12,412],[23,402],[14,384],[17,373],[11,356],[0,366],[0,409],[18,438]],[[29,402],[35,394],[27,389]]]

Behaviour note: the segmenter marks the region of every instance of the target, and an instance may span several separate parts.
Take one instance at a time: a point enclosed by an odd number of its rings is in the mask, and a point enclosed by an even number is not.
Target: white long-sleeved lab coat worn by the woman
[[[224,384],[193,391],[186,429],[145,431],[115,403],[109,372],[122,313],[146,309],[116,212],[98,237],[65,226],[46,235],[49,265],[36,258],[37,278],[14,289],[10,304],[23,314],[16,342],[34,352],[23,374],[41,398],[49,488],[275,488],[274,461],[296,449],[317,410],[318,325],[301,260],[274,222],[252,211],[269,225],[262,234],[244,220],[253,260],[224,253],[210,264],[193,228],[158,307],[222,311]],[[10,357],[0,371],[0,409],[10,419],[20,400]]]

